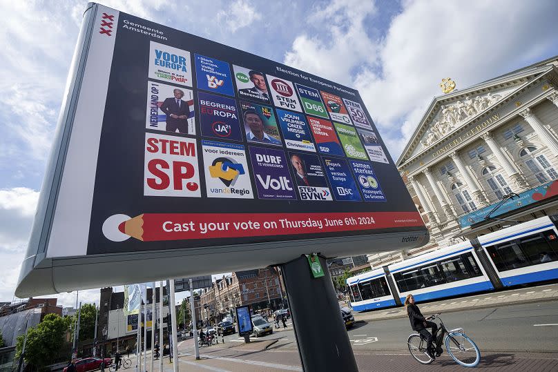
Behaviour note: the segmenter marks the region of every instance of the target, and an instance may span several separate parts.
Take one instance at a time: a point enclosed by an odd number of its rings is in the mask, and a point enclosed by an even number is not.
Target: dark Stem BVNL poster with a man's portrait
[[[289,160],[302,200],[333,200],[317,155],[289,153]]]

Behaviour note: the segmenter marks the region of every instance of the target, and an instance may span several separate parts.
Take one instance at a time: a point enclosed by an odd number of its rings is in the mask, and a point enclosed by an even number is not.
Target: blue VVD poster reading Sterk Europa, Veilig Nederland
[[[204,55],[195,55],[195,76],[198,79],[198,89],[234,97],[229,63]]]

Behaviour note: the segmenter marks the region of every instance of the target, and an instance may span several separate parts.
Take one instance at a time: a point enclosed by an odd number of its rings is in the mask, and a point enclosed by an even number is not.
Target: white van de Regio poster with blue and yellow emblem
[[[253,199],[244,146],[202,141],[207,197]]]

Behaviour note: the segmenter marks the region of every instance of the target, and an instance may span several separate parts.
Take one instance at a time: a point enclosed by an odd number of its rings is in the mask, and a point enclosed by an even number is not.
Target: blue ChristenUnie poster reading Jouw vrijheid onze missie
[[[277,118],[279,119],[287,148],[316,153],[316,146],[314,146],[312,141],[310,128],[306,123],[304,115],[277,109]]]

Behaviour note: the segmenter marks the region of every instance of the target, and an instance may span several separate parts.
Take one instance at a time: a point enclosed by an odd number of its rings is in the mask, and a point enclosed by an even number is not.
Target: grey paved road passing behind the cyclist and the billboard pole
[[[478,369],[558,370],[558,301],[464,310],[444,314],[442,319],[448,327],[462,326],[477,342],[482,353]],[[449,371],[456,368],[447,355],[430,366],[415,362],[405,349],[410,332],[405,318],[359,322],[349,330],[359,370]],[[187,371],[302,371],[290,324],[287,330],[253,339],[250,344],[244,344],[238,335],[224,337],[224,341],[224,344],[202,348],[200,361],[193,358],[192,341],[182,342],[181,368],[184,365]]]

